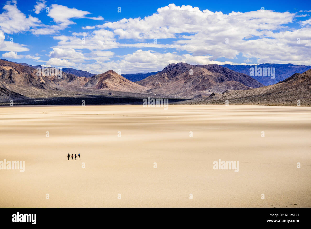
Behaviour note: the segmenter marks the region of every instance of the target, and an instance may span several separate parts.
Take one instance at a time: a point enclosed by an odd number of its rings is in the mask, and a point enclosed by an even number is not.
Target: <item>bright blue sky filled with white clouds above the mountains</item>
[[[311,1],[2,1],[2,59],[94,74],[311,65]]]

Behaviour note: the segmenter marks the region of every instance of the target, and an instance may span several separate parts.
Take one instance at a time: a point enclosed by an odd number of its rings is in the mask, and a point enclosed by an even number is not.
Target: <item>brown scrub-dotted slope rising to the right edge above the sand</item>
[[[195,98],[188,104],[225,105],[225,101],[229,105],[310,106],[311,69],[301,74],[295,73],[273,85],[245,91],[227,90],[207,98]]]

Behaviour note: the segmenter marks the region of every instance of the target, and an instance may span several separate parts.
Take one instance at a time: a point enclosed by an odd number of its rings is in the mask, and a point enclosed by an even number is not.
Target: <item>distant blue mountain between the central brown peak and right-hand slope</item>
[[[225,68],[229,68],[236,72],[244,73],[250,75],[250,68],[255,68],[255,65],[232,65],[232,64],[223,64],[220,65]],[[257,69],[263,68],[275,68],[275,78],[271,79],[271,76],[265,75],[253,75],[252,77],[256,79],[258,82],[262,83],[263,85],[271,85],[278,83],[295,73],[303,73],[309,69],[311,66],[309,65],[294,65],[294,64],[258,64]]]

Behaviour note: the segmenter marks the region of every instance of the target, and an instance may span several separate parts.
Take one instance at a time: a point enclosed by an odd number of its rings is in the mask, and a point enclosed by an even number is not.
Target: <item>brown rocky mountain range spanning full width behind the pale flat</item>
[[[169,64],[162,71],[149,73],[151,75],[137,82],[113,70],[91,77],[62,72],[59,77],[51,74],[53,69],[45,67],[44,71],[47,70],[49,74],[44,74],[42,68],[37,71],[35,66],[26,63],[1,59],[0,101],[62,98],[66,103],[69,101],[66,98],[92,96],[96,97],[96,103],[105,103],[108,97],[125,99],[151,96],[174,101],[179,99],[178,103],[187,104],[223,104],[225,100],[241,104],[293,104],[293,101],[301,99],[307,105],[311,90],[311,70],[264,86],[247,74],[217,64]],[[71,72],[75,70],[69,68]],[[46,104],[54,104],[55,99],[53,101]]]

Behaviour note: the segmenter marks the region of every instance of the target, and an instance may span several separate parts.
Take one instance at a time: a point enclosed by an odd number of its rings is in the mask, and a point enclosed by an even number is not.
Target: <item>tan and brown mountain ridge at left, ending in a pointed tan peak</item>
[[[38,98],[46,94],[53,96],[57,91],[70,96],[71,92],[103,94],[104,91],[105,94],[109,91],[148,94],[146,90],[149,89],[125,79],[113,70],[92,77],[78,77],[55,68],[45,67],[37,70],[28,65],[5,60],[0,60],[0,83],[3,99],[6,100],[10,95],[12,98],[18,98],[20,95],[24,95],[25,98]]]

